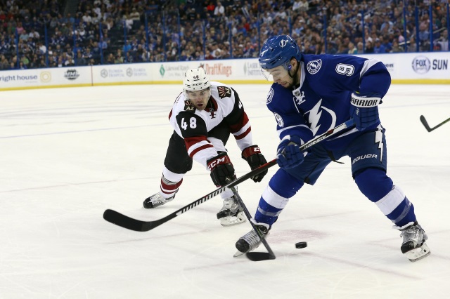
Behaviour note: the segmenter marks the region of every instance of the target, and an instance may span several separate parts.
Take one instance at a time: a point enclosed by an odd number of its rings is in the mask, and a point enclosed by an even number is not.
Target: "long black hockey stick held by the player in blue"
[[[325,133],[317,136],[316,138],[313,138],[309,140],[308,142],[304,143],[304,145],[300,146],[300,150],[304,151],[307,148],[315,145],[317,142],[321,142],[322,140],[325,140],[329,138],[332,135],[335,135],[346,128],[349,128],[350,126],[354,125],[353,119],[349,119],[348,121],[345,121],[345,123],[340,124],[339,126],[336,126],[335,128],[332,128]],[[254,170],[250,171],[250,173],[246,173],[245,175],[241,176],[240,178],[237,178],[236,180],[233,180],[233,182],[230,182],[229,184],[225,185],[224,187],[219,187],[213,192],[210,192],[206,194],[204,197],[200,197],[200,199],[197,199],[196,201],[191,202],[191,204],[188,204],[187,206],[184,206],[183,208],[180,208],[177,211],[174,211],[174,213],[169,214],[165,216],[165,218],[161,218],[159,220],[153,220],[153,221],[143,221],[134,219],[131,217],[128,217],[127,215],[124,215],[122,213],[119,213],[114,210],[106,210],[103,213],[103,219],[105,219],[108,222],[114,223],[115,225],[119,225],[120,227],[127,228],[128,230],[135,230],[136,232],[147,232],[149,230],[153,230],[155,227],[158,227],[162,225],[162,223],[165,223],[169,220],[172,220],[176,216],[181,215],[182,213],[186,213],[186,211],[191,210],[191,208],[195,208],[195,206],[198,206],[199,204],[203,204],[205,201],[212,199],[212,197],[215,197],[221,193],[223,193],[226,188],[234,187],[241,182],[244,182],[245,180],[248,180],[249,178],[254,177],[255,175],[262,173],[263,171],[266,171],[266,169],[271,168],[276,164],[276,159],[273,159],[266,164],[259,166],[258,168],[255,168]]]

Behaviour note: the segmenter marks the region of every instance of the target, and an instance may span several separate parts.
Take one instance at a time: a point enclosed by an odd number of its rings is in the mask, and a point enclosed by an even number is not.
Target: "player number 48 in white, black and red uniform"
[[[233,164],[226,152],[230,134],[236,139],[242,158],[251,169],[266,164],[259,147],[253,143],[252,128],[236,91],[210,81],[205,69],[188,69],[183,92],[169,113],[174,133],[169,140],[162,168],[160,191],[143,201],[144,208],[156,208],[172,201],[192,161],[202,164],[219,187],[235,180]],[[252,178],[260,182],[267,171]],[[245,222],[245,216],[231,190],[221,193],[223,207],[217,213],[221,225]]]

